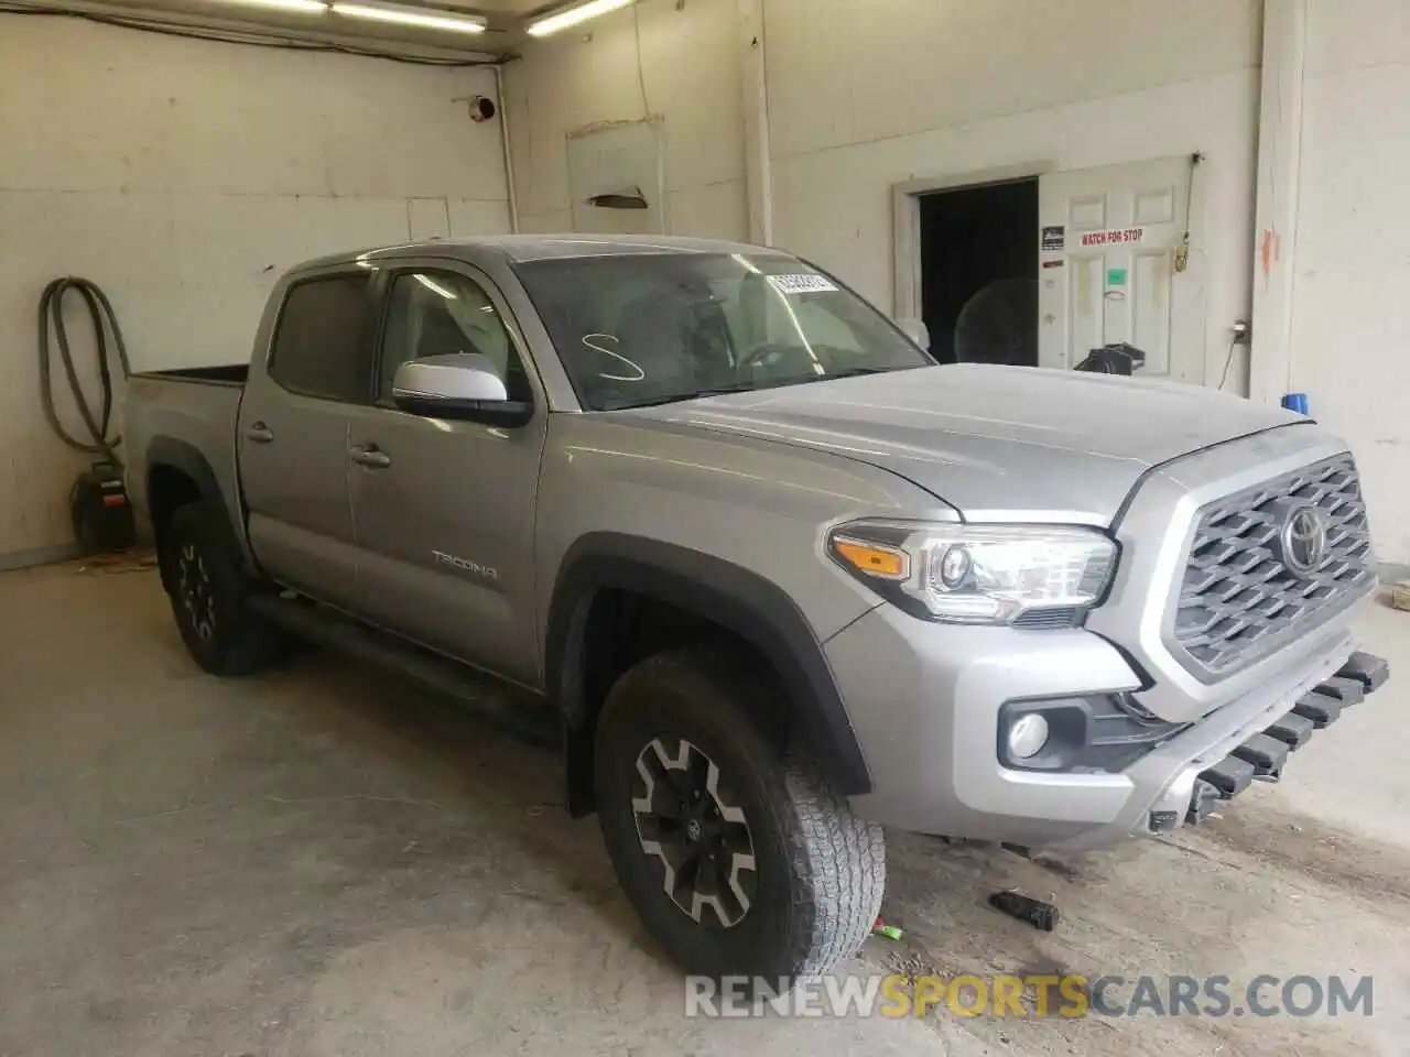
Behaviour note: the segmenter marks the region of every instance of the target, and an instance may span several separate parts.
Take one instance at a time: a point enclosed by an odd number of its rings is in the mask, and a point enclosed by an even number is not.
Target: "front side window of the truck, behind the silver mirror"
[[[489,295],[457,272],[402,272],[392,280],[376,399],[389,403],[409,359],[475,352],[499,373],[510,400],[532,400],[529,376]]]

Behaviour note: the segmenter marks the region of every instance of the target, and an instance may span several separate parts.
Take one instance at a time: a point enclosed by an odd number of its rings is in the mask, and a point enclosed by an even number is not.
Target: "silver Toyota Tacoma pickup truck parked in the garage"
[[[797,978],[881,826],[1089,850],[1198,823],[1386,678],[1356,468],[1197,388],[940,366],[835,278],[485,238],[275,286],[248,368],[133,378],[180,634],[290,636],[548,730],[650,932]]]

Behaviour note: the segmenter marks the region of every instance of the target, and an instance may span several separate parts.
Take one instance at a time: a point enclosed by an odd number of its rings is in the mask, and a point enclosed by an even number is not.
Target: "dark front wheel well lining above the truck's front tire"
[[[588,603],[582,626],[580,693],[568,715],[568,806],[577,816],[592,808],[592,744],[596,717],[608,692],[647,657],[681,645],[711,643],[722,647],[752,678],[766,681],[761,700],[774,702],[757,716],[760,729],[780,750],[788,746],[790,707],[784,684],[767,655],[729,627],[681,606],[634,591],[602,589]]]

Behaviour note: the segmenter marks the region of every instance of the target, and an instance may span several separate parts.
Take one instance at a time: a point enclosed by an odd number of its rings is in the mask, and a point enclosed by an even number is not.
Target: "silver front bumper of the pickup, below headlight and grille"
[[[853,809],[898,829],[1073,851],[1198,822],[1253,778],[1276,778],[1277,746],[1307,734],[1308,717],[1283,723],[1294,709],[1320,713],[1314,729],[1340,715],[1341,702],[1308,695],[1359,700],[1355,691],[1385,681],[1385,662],[1356,654],[1345,624],[1269,658],[1258,686],[1121,771],[1035,772],[1000,764],[1003,705],[1135,691],[1125,655],[1086,630],[942,627],[880,606],[826,644],[874,784]]]

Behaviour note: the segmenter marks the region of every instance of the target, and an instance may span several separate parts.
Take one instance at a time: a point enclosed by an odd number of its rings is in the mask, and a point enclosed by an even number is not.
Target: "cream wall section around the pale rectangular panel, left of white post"
[[[743,238],[743,113],[735,0],[643,0],[529,45],[505,75],[525,231],[570,231],[568,132],[608,121],[664,123],[666,227]],[[640,42],[640,48],[637,47]]]

